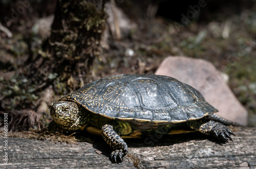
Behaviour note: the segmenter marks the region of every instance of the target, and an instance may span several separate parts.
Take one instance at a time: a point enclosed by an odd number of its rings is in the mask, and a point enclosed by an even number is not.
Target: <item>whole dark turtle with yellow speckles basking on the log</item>
[[[121,74],[101,78],[50,105],[57,126],[102,135],[112,162],[127,154],[125,138],[199,131],[228,142],[226,125],[202,94],[176,78],[155,74]]]

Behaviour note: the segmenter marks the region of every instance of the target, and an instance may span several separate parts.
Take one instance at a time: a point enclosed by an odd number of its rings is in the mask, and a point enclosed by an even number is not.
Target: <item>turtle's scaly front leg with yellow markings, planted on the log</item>
[[[106,124],[101,129],[101,135],[105,142],[110,145],[113,150],[110,154],[110,159],[112,162],[122,162],[123,157],[128,152],[128,147],[124,140],[118,135],[112,125]]]

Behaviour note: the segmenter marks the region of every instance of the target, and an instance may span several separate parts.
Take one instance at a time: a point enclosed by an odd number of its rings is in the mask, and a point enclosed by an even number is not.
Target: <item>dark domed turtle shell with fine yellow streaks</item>
[[[119,120],[180,123],[218,110],[193,87],[154,74],[122,74],[102,78],[62,97],[95,114]]]

